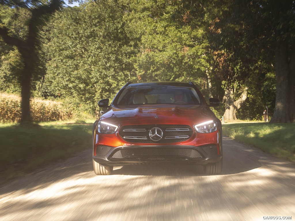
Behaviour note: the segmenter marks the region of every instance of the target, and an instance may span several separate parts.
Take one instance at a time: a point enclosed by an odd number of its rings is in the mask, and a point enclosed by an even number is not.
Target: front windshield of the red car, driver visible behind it
[[[119,95],[117,105],[135,104],[200,104],[201,99],[192,87],[171,85],[140,85],[126,87]]]

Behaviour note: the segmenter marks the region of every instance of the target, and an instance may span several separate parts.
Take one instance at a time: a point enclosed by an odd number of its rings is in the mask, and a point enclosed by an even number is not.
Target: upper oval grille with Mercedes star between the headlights
[[[155,135],[155,128],[160,129],[157,129],[158,135]],[[144,144],[183,142],[191,138],[193,134],[191,126],[178,124],[126,125],[119,130],[119,135],[124,141]]]

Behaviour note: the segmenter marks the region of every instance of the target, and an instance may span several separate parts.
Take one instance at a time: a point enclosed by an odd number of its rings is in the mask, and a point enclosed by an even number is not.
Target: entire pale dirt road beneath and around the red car
[[[295,165],[224,138],[223,172],[134,165],[96,176],[91,149],[0,188],[0,220],[295,220]]]

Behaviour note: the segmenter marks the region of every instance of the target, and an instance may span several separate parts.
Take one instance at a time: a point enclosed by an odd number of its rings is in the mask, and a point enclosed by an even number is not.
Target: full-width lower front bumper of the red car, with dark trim
[[[218,144],[192,145],[125,145],[97,147],[94,161],[101,166],[125,164],[173,163],[205,165],[222,159]]]

